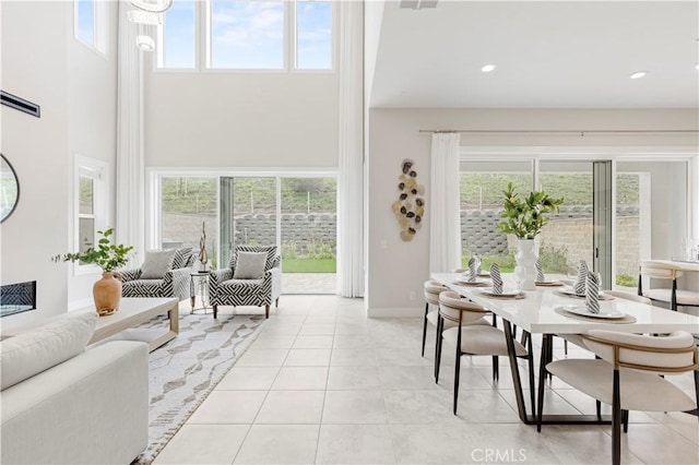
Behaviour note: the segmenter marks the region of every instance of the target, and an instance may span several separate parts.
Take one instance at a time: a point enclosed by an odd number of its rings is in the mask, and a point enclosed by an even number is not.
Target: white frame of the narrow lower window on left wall
[[[93,179],[93,214],[80,213],[80,178],[88,177]],[[72,250],[79,251],[80,241],[80,219],[94,218],[93,240],[97,238],[97,231],[107,227],[109,219],[108,195],[109,195],[109,164],[106,162],[75,154],[73,168],[73,234]],[[100,272],[95,264],[73,263],[73,275],[84,275]]]

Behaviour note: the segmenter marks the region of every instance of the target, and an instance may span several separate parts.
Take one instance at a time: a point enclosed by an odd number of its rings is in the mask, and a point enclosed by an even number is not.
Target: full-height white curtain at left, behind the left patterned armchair
[[[130,4],[119,2],[117,83],[117,220],[116,238],[133,246],[132,263],[144,257],[143,61],[135,46],[138,27],[127,17]]]

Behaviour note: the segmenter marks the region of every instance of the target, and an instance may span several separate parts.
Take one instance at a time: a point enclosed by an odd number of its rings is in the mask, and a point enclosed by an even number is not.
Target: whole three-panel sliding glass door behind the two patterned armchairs
[[[226,266],[239,245],[275,245],[285,294],[335,294],[337,180],[328,172],[153,172],[150,242],[203,241],[208,266]]]

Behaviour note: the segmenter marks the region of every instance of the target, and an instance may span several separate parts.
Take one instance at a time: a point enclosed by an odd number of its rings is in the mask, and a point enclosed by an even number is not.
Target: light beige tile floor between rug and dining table
[[[248,310],[259,311],[238,311]],[[283,296],[262,334],[155,463],[611,462],[609,427],[544,426],[537,433],[522,425],[507,360],[494,383],[489,357],[464,358],[452,415],[454,357],[445,348],[436,384],[434,326],[428,334],[423,358],[422,319],[367,319],[362,300]],[[677,381],[694,396],[691,377]],[[594,401],[554,379],[545,412],[591,414]],[[631,413],[621,461],[699,463],[697,417]]]

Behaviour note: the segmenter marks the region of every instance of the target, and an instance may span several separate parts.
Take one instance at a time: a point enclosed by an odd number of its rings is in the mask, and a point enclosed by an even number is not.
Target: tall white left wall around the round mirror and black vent
[[[72,151],[114,163],[115,107],[109,103],[115,68],[78,48],[72,1],[3,1],[0,8],[2,90],[42,107],[40,118],[0,107],[2,153],[21,188],[16,210],[0,225],[0,281],[37,282],[37,310],[0,321],[11,329],[68,308],[70,267],[50,258],[73,247]],[[76,285],[71,294],[90,296],[93,282]]]

